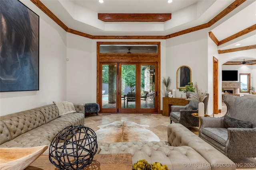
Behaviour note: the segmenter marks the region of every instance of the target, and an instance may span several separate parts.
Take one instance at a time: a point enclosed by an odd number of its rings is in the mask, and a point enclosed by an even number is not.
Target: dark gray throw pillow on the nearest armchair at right
[[[225,128],[252,128],[252,122],[236,119],[234,117],[224,116]]]

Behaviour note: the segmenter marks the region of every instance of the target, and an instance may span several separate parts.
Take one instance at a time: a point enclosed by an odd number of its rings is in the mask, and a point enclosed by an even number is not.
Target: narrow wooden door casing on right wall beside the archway
[[[213,57],[213,114],[218,114],[218,59]]]

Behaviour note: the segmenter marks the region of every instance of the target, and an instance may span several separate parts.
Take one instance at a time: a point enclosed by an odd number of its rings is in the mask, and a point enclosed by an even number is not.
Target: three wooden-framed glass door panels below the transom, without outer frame
[[[156,63],[101,63],[105,113],[156,113]]]

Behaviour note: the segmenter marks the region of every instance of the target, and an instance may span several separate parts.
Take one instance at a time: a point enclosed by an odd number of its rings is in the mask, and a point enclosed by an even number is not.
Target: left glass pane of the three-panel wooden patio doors
[[[116,108],[116,64],[102,64],[102,108]]]

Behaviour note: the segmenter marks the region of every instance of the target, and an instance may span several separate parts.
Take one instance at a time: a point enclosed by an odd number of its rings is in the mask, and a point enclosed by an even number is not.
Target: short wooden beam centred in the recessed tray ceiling
[[[172,14],[98,14],[98,19],[104,22],[165,22]]]

